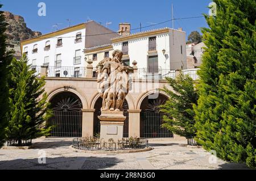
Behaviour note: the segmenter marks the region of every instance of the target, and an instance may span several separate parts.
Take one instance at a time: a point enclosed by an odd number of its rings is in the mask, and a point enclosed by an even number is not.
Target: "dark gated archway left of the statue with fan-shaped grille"
[[[51,137],[82,136],[82,102],[72,92],[60,92],[50,100],[53,117],[48,120],[53,127]]]

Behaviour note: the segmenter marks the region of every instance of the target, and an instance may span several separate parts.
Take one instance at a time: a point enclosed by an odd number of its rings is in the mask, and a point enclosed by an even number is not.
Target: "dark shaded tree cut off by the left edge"
[[[0,4],[0,8],[2,5]],[[3,11],[0,11],[0,146],[4,142],[5,127],[7,125],[7,111],[9,110],[9,88],[7,80],[9,78],[10,64],[13,58],[12,52],[6,49],[6,31],[7,23]]]

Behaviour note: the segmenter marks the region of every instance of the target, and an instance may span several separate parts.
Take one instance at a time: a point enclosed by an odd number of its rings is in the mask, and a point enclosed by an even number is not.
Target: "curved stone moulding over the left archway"
[[[82,102],[82,109],[87,110],[89,108],[86,96],[84,94],[81,94],[79,91],[77,91],[76,89],[74,89],[72,87],[68,87],[68,89],[65,88],[65,87],[60,87],[60,88],[57,88],[57,89],[51,91],[48,94],[47,102],[50,102],[51,99],[55,95],[60,94],[61,92],[72,92],[73,94],[76,94],[80,98],[80,100]]]

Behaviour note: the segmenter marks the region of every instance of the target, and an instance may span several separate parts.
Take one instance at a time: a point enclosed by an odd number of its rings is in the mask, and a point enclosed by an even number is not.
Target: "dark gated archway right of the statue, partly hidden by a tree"
[[[172,138],[174,134],[166,128],[162,128],[164,113],[159,112],[159,107],[168,99],[159,94],[157,99],[148,95],[141,103],[141,137],[144,138]]]

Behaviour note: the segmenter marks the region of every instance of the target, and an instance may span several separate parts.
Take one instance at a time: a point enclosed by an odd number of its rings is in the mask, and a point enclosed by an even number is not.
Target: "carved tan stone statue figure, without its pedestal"
[[[96,67],[98,91],[103,99],[101,111],[121,111],[129,92],[129,73],[133,73],[133,68],[122,62],[120,50],[114,50],[112,56]]]

